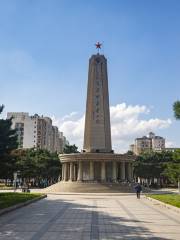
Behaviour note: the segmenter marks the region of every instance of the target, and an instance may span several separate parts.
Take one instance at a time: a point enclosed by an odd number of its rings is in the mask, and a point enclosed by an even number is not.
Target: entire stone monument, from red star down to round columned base
[[[131,182],[133,178],[134,156],[115,154],[112,150],[107,59],[99,53],[99,42],[96,48],[97,54],[89,59],[83,150],[81,153],[59,156],[63,191],[94,191],[95,183],[99,184],[98,191],[108,184],[111,184],[111,189],[112,184],[120,189],[122,182]]]

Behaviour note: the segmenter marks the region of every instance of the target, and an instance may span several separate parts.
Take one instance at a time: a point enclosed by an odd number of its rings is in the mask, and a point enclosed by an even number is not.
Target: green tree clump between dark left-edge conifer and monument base
[[[58,181],[61,164],[57,153],[44,149],[17,149],[13,156],[23,182],[46,187]]]

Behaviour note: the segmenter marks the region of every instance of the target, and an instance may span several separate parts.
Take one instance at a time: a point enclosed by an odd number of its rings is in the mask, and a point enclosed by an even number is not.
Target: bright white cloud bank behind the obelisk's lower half
[[[110,107],[112,145],[116,152],[125,152],[136,137],[147,135],[150,131],[168,128],[170,119],[143,119],[143,115],[150,114],[151,108],[139,105],[117,104]],[[146,117],[147,118],[147,117]],[[73,112],[62,119],[53,119],[53,124],[64,132],[70,141],[82,149],[84,134],[84,116],[78,118]]]

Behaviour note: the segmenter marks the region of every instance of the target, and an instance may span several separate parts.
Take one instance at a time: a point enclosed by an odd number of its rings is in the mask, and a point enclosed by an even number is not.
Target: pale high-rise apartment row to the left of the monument
[[[12,128],[17,129],[19,148],[47,149],[50,152],[62,153],[64,138],[61,132],[52,125],[49,117],[29,116],[26,112],[9,112],[7,118],[12,117]]]

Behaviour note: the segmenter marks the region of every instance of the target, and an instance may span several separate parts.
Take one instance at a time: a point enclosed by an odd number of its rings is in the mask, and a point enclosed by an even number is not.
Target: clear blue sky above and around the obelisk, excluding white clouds
[[[172,112],[180,98],[179,12],[178,0],[0,1],[0,102],[6,111],[54,116],[59,124],[77,112],[71,120],[78,121],[88,58],[101,41],[110,105],[146,106],[141,121],[170,119],[152,130],[180,147],[180,122]]]

